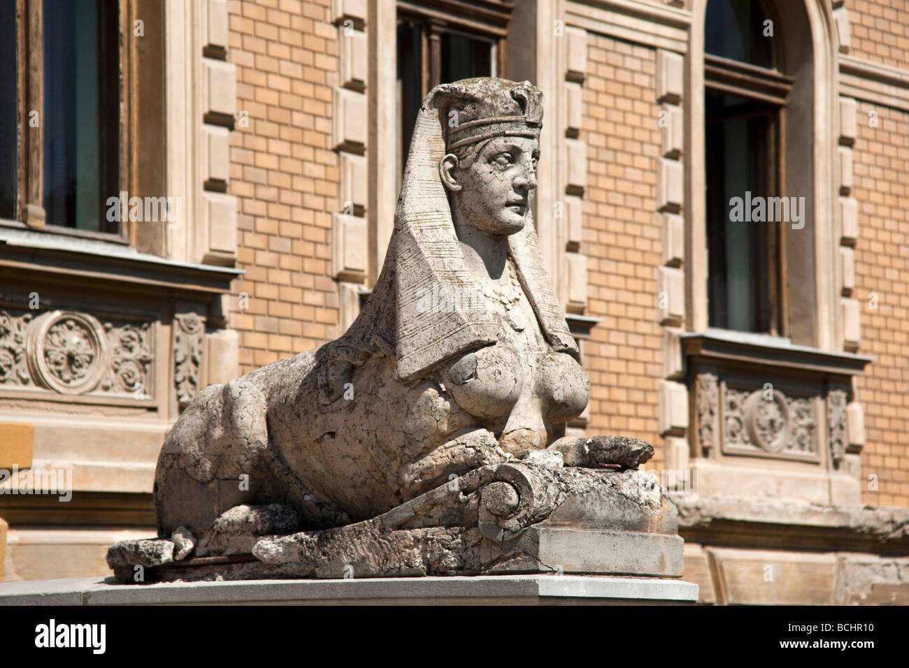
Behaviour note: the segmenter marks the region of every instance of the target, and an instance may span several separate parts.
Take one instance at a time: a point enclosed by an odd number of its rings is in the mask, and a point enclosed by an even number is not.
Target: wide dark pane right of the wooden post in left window
[[[44,37],[47,223],[117,232],[105,204],[120,180],[117,3],[45,0]]]

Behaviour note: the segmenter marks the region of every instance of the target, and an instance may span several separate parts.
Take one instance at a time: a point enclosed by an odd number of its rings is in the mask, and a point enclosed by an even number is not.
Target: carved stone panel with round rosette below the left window
[[[153,398],[153,323],[0,311],[0,390]]]

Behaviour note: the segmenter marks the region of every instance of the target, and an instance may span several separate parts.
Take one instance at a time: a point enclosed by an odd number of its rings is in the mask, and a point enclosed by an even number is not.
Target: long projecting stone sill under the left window
[[[119,241],[45,234],[0,226],[0,271],[80,276],[105,283],[140,284],[188,293],[223,294],[244,274],[213,264],[175,262],[139,253]]]

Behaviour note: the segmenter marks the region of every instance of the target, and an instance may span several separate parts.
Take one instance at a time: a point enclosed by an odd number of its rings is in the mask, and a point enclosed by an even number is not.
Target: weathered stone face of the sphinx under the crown
[[[536,187],[540,144],[530,137],[494,137],[469,165],[459,165],[454,205],[477,229],[496,235],[524,229]]]

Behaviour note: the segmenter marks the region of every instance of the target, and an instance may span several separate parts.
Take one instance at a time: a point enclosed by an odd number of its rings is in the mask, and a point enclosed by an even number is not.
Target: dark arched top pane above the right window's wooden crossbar
[[[710,0],[704,26],[704,51],[751,65],[773,67],[774,37],[764,36],[764,21],[770,18],[760,0]],[[774,31],[779,27],[774,25]]]

